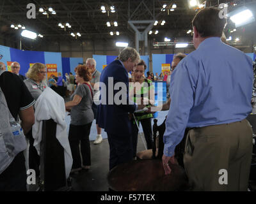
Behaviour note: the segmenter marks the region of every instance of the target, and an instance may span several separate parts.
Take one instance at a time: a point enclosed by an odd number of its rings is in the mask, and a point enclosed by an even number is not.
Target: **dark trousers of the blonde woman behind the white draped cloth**
[[[29,138],[29,153],[28,153],[28,163],[29,169],[35,170],[36,176],[40,175],[40,156],[37,154],[37,150],[34,147],[34,138],[32,136],[32,129],[26,134],[26,137]]]

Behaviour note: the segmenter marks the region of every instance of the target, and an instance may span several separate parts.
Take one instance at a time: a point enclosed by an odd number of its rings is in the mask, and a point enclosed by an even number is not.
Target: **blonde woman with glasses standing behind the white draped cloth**
[[[26,73],[27,79],[24,80],[24,83],[35,100],[47,87],[47,84],[45,84],[46,73],[45,64],[39,62],[33,64]],[[26,134],[26,137],[29,138],[29,169],[35,170],[36,176],[39,176],[40,157],[34,147],[35,140],[32,136],[32,128]]]

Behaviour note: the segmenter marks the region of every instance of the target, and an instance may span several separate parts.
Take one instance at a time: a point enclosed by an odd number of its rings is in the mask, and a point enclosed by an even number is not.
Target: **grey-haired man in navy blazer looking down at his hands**
[[[129,101],[128,72],[139,61],[140,54],[134,48],[127,47],[100,75],[97,124],[108,134],[109,170],[118,164],[132,161],[132,127],[128,113],[142,109],[145,105]]]

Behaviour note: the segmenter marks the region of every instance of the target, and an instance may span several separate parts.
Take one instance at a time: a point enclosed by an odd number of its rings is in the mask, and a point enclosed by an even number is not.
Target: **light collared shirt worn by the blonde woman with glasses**
[[[40,96],[40,94],[42,94],[44,89],[46,89],[47,87],[47,84],[45,84],[44,81],[40,82],[40,84],[37,84],[31,78],[27,78],[26,80],[24,80],[24,83],[28,87],[28,91],[31,93],[35,100]]]

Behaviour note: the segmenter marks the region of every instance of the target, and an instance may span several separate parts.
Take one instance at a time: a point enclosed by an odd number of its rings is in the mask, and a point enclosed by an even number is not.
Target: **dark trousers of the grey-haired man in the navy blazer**
[[[131,135],[108,134],[109,143],[109,170],[118,164],[132,161],[132,137]]]

